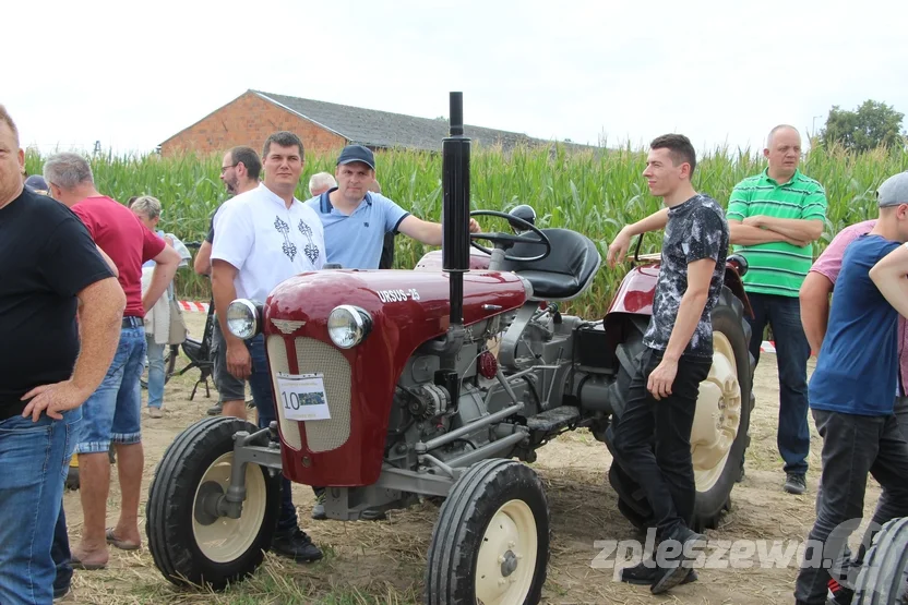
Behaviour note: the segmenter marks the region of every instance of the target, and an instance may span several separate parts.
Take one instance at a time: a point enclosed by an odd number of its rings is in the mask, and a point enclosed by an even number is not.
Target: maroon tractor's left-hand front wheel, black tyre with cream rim
[[[223,590],[262,564],[277,523],[278,477],[246,467],[246,500],[239,519],[218,517],[211,499],[227,492],[234,435],[252,423],[217,416],[183,431],[160,460],[148,489],[146,533],[155,565],[177,585]]]

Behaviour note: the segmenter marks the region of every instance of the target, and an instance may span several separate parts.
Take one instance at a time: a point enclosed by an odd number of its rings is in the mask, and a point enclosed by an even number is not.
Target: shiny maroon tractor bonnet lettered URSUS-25
[[[518,308],[525,301],[524,282],[513,274],[480,270],[464,275],[465,326]],[[289,447],[282,434],[284,474],[308,485],[360,486],[378,480],[401,372],[417,348],[447,331],[447,274],[322,270],[284,281],[265,303],[263,331],[266,339],[272,335],[283,339],[290,373],[309,372],[298,367],[296,338],[313,338],[334,347],[327,334],[327,318],[340,304],[367,311],[372,316],[372,332],[351,349],[337,349],[349,362],[351,379],[350,434],[344,445],[328,451],[311,451],[302,422],[297,425],[301,451]],[[306,324],[284,334],[271,319]]]

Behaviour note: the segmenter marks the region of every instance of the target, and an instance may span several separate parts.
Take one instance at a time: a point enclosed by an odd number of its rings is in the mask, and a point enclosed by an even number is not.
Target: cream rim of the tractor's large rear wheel
[[[741,425],[741,385],[731,342],[713,332],[713,365],[700,384],[691,456],[697,492],[707,492],[722,474]]]

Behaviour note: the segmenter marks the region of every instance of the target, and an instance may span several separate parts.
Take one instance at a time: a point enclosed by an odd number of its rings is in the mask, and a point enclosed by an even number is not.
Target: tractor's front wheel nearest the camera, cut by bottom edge
[[[432,532],[428,605],[539,603],[549,560],[542,482],[521,462],[473,465],[451,488]]]

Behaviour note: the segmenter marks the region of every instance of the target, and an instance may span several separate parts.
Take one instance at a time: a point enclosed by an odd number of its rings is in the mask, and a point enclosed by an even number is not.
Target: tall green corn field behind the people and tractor
[[[309,197],[309,177],[325,170],[334,172],[335,154],[307,153],[307,164],[297,197]],[[441,155],[411,150],[386,150],[377,154],[377,178],[383,193],[428,220],[441,220]],[[40,173],[41,157],[26,156],[28,173]],[[470,164],[473,209],[509,210],[529,204],[539,217],[540,227],[565,227],[580,231],[599,246],[605,261],[608,244],[628,222],[656,211],[661,202],[649,195],[641,176],[646,152],[624,147],[607,153],[571,152],[563,148],[474,148]],[[164,205],[160,229],[176,233],[184,242],[204,239],[208,220],[226,199],[219,180],[220,156],[184,155],[160,157],[95,156],[92,167],[98,190],[126,203],[132,195],[150,194]],[[722,206],[734,184],[763,170],[758,154],[716,149],[697,160],[694,186],[715,197]],[[820,181],[829,202],[826,229],[814,244],[819,255],[844,227],[876,216],[874,192],[887,177],[908,170],[908,152],[876,149],[850,154],[840,148],[815,148],[800,169]],[[483,229],[503,230],[498,219],[480,217]],[[410,268],[429,249],[406,237],[396,238],[395,265]],[[480,242],[487,245],[488,242]],[[644,239],[642,253],[658,251],[659,234]],[[629,264],[608,268],[605,263],[594,288],[571,304],[572,313],[601,316]],[[191,269],[177,277],[180,295],[188,300],[207,300],[210,286]]]

